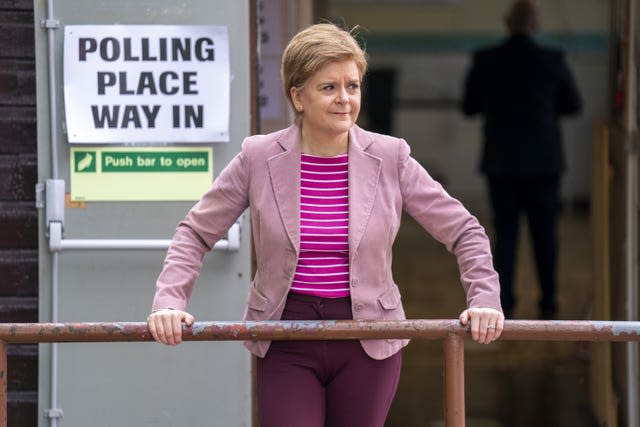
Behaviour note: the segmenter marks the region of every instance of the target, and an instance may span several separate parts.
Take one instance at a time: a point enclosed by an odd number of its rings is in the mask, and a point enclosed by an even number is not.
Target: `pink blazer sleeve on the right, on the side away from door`
[[[502,311],[489,239],[478,220],[410,156],[400,142],[399,177],[404,210],[456,256],[467,307]]]

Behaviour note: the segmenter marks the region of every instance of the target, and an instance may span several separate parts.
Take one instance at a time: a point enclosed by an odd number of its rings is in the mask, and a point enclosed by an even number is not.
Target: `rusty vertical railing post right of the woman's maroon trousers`
[[[444,425],[464,427],[464,338],[449,334],[444,339]]]

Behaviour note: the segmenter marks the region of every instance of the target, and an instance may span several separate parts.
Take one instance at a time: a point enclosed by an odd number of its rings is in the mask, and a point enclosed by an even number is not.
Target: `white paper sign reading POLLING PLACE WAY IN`
[[[67,25],[70,143],[229,141],[227,27]]]

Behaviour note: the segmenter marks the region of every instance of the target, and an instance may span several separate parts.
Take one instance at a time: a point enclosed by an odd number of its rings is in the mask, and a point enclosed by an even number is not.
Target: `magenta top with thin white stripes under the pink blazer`
[[[300,257],[291,292],[349,296],[349,157],[302,154]]]

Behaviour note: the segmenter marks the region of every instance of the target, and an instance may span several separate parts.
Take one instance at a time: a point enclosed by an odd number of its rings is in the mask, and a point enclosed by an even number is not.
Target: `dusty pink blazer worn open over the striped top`
[[[180,222],[156,287],[153,309],[185,310],[205,253],[250,207],[257,270],[245,320],[278,320],[300,251],[300,129],[247,138],[242,151]],[[500,286],[482,226],[410,157],[399,138],[353,126],[349,132],[349,260],[353,318],[404,319],[391,276],[402,210],[457,260],[468,307],[500,308]],[[384,359],[408,340],[363,340]],[[264,357],[269,341],[249,341]]]

